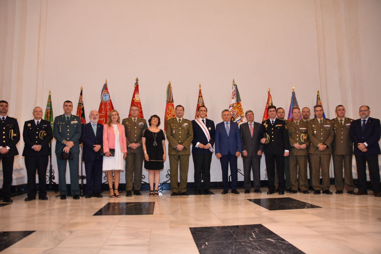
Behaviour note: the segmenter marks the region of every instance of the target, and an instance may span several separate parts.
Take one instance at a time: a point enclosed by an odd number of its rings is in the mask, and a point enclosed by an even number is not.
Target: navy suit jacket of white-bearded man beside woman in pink
[[[83,161],[94,161],[95,159],[103,159],[100,151],[96,153],[93,150],[94,145],[101,145],[101,147],[103,147],[103,125],[102,124],[97,124],[96,137],[94,135],[94,130],[93,130],[93,126],[91,126],[91,122],[87,124],[83,124],[81,139],[83,143],[83,153],[82,153]]]

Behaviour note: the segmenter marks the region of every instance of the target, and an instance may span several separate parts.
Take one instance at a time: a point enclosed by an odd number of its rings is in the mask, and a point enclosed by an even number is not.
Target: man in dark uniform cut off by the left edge
[[[16,118],[7,116],[8,102],[0,101],[0,160],[3,164],[3,202],[12,203],[11,185],[14,156],[18,155],[17,143],[20,140],[19,124]]]

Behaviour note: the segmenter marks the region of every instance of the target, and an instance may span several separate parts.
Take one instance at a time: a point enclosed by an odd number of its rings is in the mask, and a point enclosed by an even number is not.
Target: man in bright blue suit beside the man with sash
[[[216,156],[221,162],[222,182],[224,190],[221,194],[227,194],[229,190],[229,164],[232,174],[232,193],[237,191],[237,158],[242,152],[241,136],[238,124],[230,121],[231,113],[229,109],[224,109],[221,113],[223,122],[216,125]]]

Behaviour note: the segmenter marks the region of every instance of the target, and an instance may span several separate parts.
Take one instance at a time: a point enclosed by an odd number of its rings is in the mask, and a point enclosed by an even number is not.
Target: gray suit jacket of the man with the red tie
[[[261,144],[261,124],[259,122],[253,122],[253,137],[251,137],[249,123],[245,122],[239,126],[239,133],[241,135],[242,141],[242,152],[247,151],[247,157],[251,157],[253,154],[256,157],[258,156],[259,147],[262,148],[263,144]],[[262,148],[263,150],[263,148]],[[244,156],[243,156],[244,157]],[[242,157],[242,158],[243,158]]]

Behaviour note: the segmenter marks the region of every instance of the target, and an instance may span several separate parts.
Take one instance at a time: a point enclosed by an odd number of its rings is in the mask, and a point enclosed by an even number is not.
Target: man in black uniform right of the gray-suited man
[[[287,126],[284,120],[280,120],[276,117],[277,108],[275,106],[269,106],[267,112],[269,114],[269,119],[262,122],[260,135],[260,137],[263,137],[261,143],[265,145],[264,148],[259,148],[259,150],[264,151],[267,175],[269,177],[269,191],[267,191],[267,195],[275,193],[275,162],[277,163],[279,195],[284,195],[284,158],[288,156],[288,147],[290,146]]]

